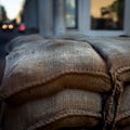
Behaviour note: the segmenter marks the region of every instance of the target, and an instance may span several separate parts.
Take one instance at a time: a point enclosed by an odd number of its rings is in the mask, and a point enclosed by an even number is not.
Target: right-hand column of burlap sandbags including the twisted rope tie
[[[113,127],[121,120],[119,126],[126,125],[130,128],[130,89],[126,87],[130,84],[130,38],[86,37],[78,40],[89,42],[107,63],[113,93],[108,109],[112,110],[112,115],[106,120],[112,121]]]

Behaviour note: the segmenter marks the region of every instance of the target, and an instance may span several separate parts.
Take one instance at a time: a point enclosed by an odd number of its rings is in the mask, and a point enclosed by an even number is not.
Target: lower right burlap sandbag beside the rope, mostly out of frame
[[[130,126],[130,86],[127,86],[122,93],[116,121],[119,127]]]

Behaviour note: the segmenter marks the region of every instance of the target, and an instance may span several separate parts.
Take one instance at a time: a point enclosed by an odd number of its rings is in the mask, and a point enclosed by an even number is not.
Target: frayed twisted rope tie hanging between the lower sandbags
[[[116,117],[118,115],[121,95],[123,92],[123,84],[121,81],[116,80],[110,96],[106,101],[104,109],[104,127],[103,130],[116,129]]]

